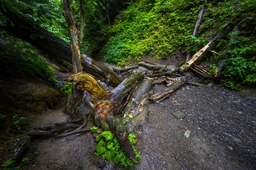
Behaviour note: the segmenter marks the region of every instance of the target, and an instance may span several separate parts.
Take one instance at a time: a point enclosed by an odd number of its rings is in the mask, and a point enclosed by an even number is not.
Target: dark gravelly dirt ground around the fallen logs
[[[153,91],[164,88],[156,85]],[[255,169],[255,88],[233,91],[213,83],[185,85],[169,99],[159,104],[149,102],[146,107],[151,113],[137,143],[141,160],[132,170]],[[89,110],[84,107],[85,112]],[[49,108],[45,113],[34,113],[27,127],[68,119],[59,108]],[[90,161],[95,147],[93,133],[61,140],[35,139],[19,165],[29,170],[100,170]],[[104,169],[125,168],[107,162]]]

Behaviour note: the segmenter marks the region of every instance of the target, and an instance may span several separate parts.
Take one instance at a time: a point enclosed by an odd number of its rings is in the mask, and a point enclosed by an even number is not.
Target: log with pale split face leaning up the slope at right
[[[210,42],[207,43],[201,50],[199,50],[195,55],[193,55],[189,61],[185,62],[180,66],[180,72],[186,72],[195,62],[200,61],[200,59],[204,58],[209,50],[214,49],[218,45],[218,40],[221,40],[227,36],[227,34],[234,28],[234,24],[230,23],[228,26],[224,28],[221,33],[215,36]]]

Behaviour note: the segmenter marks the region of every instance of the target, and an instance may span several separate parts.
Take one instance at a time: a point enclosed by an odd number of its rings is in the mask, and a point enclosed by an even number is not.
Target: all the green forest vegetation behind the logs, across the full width
[[[79,21],[79,2],[73,0],[71,6]],[[1,0],[0,10],[8,9],[29,18],[70,42],[62,8],[61,0]],[[192,31],[201,8],[205,11],[195,37]],[[229,88],[256,82],[253,0],[89,0],[85,2],[85,20],[81,52],[119,65],[129,65],[148,56],[175,59],[188,52],[193,54],[230,22],[236,23],[236,29],[228,34],[229,38],[221,40],[215,49],[221,55],[212,54],[207,62],[214,73],[221,56],[228,55],[222,77],[227,80],[225,85]],[[43,64],[44,59],[35,48],[7,34],[8,30],[3,28],[6,22],[11,21],[6,14],[0,13],[1,58],[24,64],[23,70],[40,79],[54,80],[52,68]],[[35,36],[37,34],[40,33],[35,33]],[[194,45],[189,46],[191,41]]]

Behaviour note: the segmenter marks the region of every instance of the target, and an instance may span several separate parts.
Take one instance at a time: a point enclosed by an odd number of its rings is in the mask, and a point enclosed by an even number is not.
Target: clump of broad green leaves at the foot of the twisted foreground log
[[[136,136],[129,134],[128,139],[130,140],[134,151],[137,155],[137,159],[140,160],[140,153],[137,151],[134,144],[137,142]],[[96,155],[101,156],[103,159],[113,161],[121,164],[124,167],[132,167],[133,163],[137,160],[130,160],[126,153],[120,148],[120,143],[113,133],[110,131],[103,131],[96,138],[97,145],[95,147]]]

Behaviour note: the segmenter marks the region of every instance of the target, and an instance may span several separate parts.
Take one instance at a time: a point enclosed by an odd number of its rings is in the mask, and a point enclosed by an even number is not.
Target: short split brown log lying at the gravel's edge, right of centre
[[[172,86],[170,86],[169,88],[167,88],[166,90],[160,91],[152,96],[150,96],[150,99],[153,102],[157,102],[158,100],[162,99],[165,96],[170,95],[173,91],[177,90],[178,88],[180,88],[181,86],[183,86],[183,84],[188,80],[188,77],[183,77],[183,79],[180,79],[180,81],[175,82]],[[168,96],[169,97],[169,96]]]

